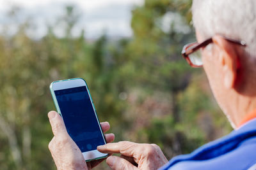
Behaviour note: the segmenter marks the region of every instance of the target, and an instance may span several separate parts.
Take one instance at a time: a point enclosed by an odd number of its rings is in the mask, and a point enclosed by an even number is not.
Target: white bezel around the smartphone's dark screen
[[[82,86],[85,86],[87,91],[88,91],[90,101],[91,101],[92,106],[93,106],[93,111],[94,111],[95,117],[97,119],[98,125],[100,127],[99,118],[97,117],[97,114],[96,114],[96,111],[95,111],[95,108],[94,108],[94,104],[92,102],[92,97],[91,97],[90,92],[88,90],[88,87],[86,85],[86,81],[84,81],[83,78],[74,78],[74,79],[68,79],[68,80],[54,81],[54,82],[51,83],[50,89],[51,89],[52,97],[54,97],[54,103],[56,103],[56,108],[57,108],[58,112],[61,115],[60,107],[59,107],[58,101],[57,101],[55,93],[54,93],[55,90],[70,89],[70,88],[82,87]],[[104,134],[102,132],[101,127],[100,127],[100,132],[102,134],[102,138],[104,140],[104,143],[106,144],[106,140],[104,138]],[[101,153],[98,150],[91,150],[91,151],[88,151],[88,152],[83,152],[83,157],[84,157],[84,160],[86,160],[86,162],[88,162],[90,160],[101,159],[101,158],[104,158],[104,157],[107,157],[107,156],[108,156],[108,153]]]

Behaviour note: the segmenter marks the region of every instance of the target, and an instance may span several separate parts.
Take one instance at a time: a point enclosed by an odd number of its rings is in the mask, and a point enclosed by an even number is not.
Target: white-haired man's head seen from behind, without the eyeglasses
[[[194,0],[192,11],[198,42],[213,40],[202,49],[212,92],[236,127],[256,108],[256,1]],[[223,36],[243,40],[246,46]]]

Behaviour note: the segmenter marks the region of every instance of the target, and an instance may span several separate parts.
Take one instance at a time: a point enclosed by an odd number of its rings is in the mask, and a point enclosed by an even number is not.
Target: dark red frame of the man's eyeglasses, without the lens
[[[230,39],[230,38],[227,38],[225,36],[221,36],[221,37],[223,37],[224,39],[226,39],[230,43],[235,43],[237,45],[246,46],[246,43],[244,41]],[[209,38],[209,39],[206,39],[202,43],[198,43],[198,42],[189,43],[189,44],[183,46],[181,54],[184,57],[184,59],[186,59],[186,61],[188,62],[188,64],[191,67],[202,67],[203,65],[198,66],[198,65],[193,64],[193,62],[191,62],[191,60],[189,59],[188,56],[189,56],[189,54],[196,52],[200,48],[205,47],[205,46],[209,45],[210,43],[212,43],[212,37]],[[193,46],[193,47],[189,48],[190,46]]]

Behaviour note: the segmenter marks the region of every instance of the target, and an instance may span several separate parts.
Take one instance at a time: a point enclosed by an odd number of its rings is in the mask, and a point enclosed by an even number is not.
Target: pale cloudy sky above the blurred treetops
[[[143,0],[0,0],[0,27],[8,24],[11,25],[8,31],[15,32],[15,25],[30,18],[35,29],[31,29],[28,34],[40,38],[47,31],[45,25],[56,24],[56,18],[63,15],[64,7],[68,4],[76,6],[77,12],[81,14],[74,27],[74,35],[84,29],[86,38],[93,39],[103,32],[111,37],[132,36],[131,10],[136,5],[142,5]],[[15,21],[6,17],[12,6],[21,8]],[[61,36],[61,25],[54,32]]]

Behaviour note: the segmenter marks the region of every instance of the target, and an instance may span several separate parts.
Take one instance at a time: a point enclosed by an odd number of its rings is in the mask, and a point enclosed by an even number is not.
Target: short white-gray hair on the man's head
[[[204,38],[222,34],[246,42],[246,51],[256,57],[255,0],[193,0],[193,24]]]

